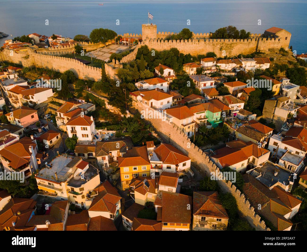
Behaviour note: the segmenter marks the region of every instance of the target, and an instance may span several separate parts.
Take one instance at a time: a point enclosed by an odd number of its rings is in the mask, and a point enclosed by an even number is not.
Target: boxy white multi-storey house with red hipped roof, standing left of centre
[[[76,136],[79,141],[92,141],[95,134],[94,118],[80,115],[71,118],[67,123],[68,137]]]

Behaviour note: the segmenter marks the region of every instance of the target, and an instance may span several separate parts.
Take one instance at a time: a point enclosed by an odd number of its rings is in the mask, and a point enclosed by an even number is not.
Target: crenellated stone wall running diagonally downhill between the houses
[[[142,114],[142,110],[148,109],[152,111],[152,108],[137,102],[135,108]],[[165,142],[169,142],[175,146],[177,149],[181,150],[183,153],[191,158],[192,164],[197,168],[202,176],[210,176],[211,172],[220,174],[220,169],[209,159],[209,157],[197,146],[195,146],[186,134],[180,131],[176,125],[168,121],[162,121],[161,119],[146,119],[153,126],[157,135],[163,139]],[[226,182],[225,180],[218,180],[218,185],[222,192],[231,193],[236,201],[240,211],[240,214],[255,227],[256,230],[266,230],[270,229],[266,227],[265,222],[260,221],[260,216],[255,213],[254,207],[251,206],[245,195],[236,189],[231,182]]]

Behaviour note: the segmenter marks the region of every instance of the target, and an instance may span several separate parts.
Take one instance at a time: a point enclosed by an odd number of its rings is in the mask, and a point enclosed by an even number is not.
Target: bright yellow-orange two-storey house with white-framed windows
[[[133,178],[149,177],[150,162],[148,159],[147,147],[138,146],[127,150],[127,153],[118,158],[120,168],[120,179],[122,189],[129,188]]]

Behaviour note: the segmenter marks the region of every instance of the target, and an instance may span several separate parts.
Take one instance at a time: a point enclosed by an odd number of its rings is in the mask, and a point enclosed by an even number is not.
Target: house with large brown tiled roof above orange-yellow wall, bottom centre
[[[163,230],[188,231],[191,226],[192,197],[159,191],[154,202],[157,221],[161,221]]]

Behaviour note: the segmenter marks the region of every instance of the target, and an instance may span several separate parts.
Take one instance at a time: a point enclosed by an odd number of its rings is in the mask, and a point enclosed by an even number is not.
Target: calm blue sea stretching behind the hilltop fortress
[[[273,2],[274,1],[274,2]],[[98,3],[103,2],[103,6]],[[180,2],[180,3],[178,3]],[[188,2],[188,3],[185,3]],[[179,32],[189,28],[195,33],[208,33],[233,25],[239,30],[263,33],[276,26],[292,33],[290,45],[298,53],[307,52],[307,1],[286,0],[148,0],[148,1],[33,1],[0,0],[0,31],[13,37],[38,33],[74,37],[89,35],[94,28],[109,28],[118,34],[141,33],[148,21],[148,11],[154,16],[158,31]],[[49,26],[45,25],[49,19]],[[120,25],[116,25],[119,19]],[[187,25],[187,19],[191,25]],[[261,19],[261,26],[258,25]],[[1,45],[4,39],[0,39]]]

